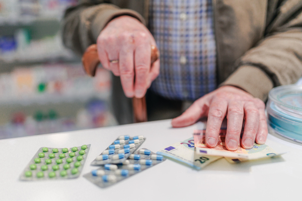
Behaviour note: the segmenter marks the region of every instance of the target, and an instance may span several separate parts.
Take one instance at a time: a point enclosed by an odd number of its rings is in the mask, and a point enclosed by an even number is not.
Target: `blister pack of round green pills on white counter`
[[[80,176],[89,145],[72,148],[41,147],[20,175],[20,180],[69,179]]]

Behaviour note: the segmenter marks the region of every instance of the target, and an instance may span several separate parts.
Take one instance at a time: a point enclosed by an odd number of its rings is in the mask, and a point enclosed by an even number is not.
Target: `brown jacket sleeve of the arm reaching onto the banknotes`
[[[264,39],[240,58],[221,85],[240,87],[265,101],[270,89],[302,76],[302,1],[284,1],[276,11]]]

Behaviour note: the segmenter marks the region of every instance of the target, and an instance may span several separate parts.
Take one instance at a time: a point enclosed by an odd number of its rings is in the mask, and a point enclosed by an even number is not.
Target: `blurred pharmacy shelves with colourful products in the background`
[[[78,0],[0,0],[0,139],[116,125],[110,73],[84,73],[62,44]]]

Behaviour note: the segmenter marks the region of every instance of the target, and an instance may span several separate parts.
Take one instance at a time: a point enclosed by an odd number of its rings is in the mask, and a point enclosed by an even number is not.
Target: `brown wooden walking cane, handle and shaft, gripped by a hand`
[[[159,50],[156,46],[151,46],[151,64],[158,60],[160,56]],[[89,46],[82,57],[82,63],[87,74],[95,76],[97,68],[100,64],[97,45],[93,44]],[[147,107],[146,98],[132,98],[133,105],[133,118],[135,123],[147,121]]]

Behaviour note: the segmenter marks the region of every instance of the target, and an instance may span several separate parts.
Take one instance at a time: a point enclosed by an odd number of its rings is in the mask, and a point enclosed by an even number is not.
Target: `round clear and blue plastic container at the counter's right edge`
[[[266,108],[268,124],[276,133],[302,143],[302,86],[273,88]]]

